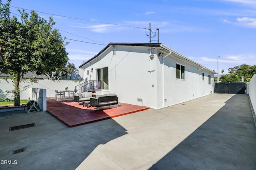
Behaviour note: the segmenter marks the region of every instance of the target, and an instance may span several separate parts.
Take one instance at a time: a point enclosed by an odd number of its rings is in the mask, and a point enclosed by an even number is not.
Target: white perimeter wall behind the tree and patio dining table
[[[23,89],[24,86],[29,86],[29,88],[41,88],[46,89],[46,97],[55,97],[55,90],[65,90],[68,87],[68,90],[74,90],[75,86],[82,83],[78,81],[71,81],[71,80],[59,80],[59,81],[52,81],[52,80],[38,80],[38,82],[20,82],[20,90]],[[12,94],[7,94],[6,90],[13,90],[14,84],[12,83],[11,79],[0,79],[0,98],[4,95],[6,97],[11,97]],[[20,99],[28,99],[30,97],[30,90],[27,88],[24,92],[20,94]]]

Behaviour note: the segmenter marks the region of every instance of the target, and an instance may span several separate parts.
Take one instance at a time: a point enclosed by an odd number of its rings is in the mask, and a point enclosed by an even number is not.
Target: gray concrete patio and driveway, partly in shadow
[[[36,127],[9,131],[29,123]],[[17,162],[0,169],[255,169],[255,142],[242,94],[213,94],[72,128],[48,112],[0,114],[0,160]]]

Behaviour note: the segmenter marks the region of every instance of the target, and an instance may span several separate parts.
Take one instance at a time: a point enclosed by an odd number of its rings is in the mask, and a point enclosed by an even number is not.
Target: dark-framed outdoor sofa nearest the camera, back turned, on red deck
[[[109,94],[108,96],[100,96],[97,99],[96,98],[90,98],[90,106],[92,109],[92,106],[99,107],[101,106],[110,106],[110,105],[118,105],[118,97],[112,96],[115,94]]]

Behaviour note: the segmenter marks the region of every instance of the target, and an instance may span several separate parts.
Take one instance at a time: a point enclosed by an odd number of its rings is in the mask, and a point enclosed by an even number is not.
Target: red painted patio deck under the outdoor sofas
[[[118,103],[118,108],[116,108],[116,105],[100,107],[99,111],[96,108],[92,107],[90,110],[90,107],[83,107],[82,103],[79,105],[77,103],[74,104],[73,100],[47,100],[47,111],[68,127],[84,125],[149,109],[149,107],[125,103]]]

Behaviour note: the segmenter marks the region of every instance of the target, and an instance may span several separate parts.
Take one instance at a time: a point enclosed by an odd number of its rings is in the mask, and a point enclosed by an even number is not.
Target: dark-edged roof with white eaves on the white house
[[[166,45],[163,45],[161,43],[109,43],[104,49],[102,49],[98,54],[96,54],[94,57],[92,57],[91,59],[89,59],[88,61],[86,61],[85,63],[83,63],[82,65],[79,66],[79,68],[81,68],[82,66],[84,66],[85,64],[89,63],[90,61],[96,59],[97,57],[99,57],[102,53],[104,53],[105,51],[107,51],[109,48],[115,46],[115,45],[121,45],[121,46],[140,46],[140,47],[157,47],[160,51],[162,51],[163,53],[169,53],[171,54],[172,57],[175,57],[177,59],[181,59],[187,63],[193,64],[195,66],[198,66],[199,68],[204,68],[205,70],[208,70],[214,74],[218,74],[217,72],[210,70],[209,68],[204,67],[203,65],[196,63],[195,61],[188,59],[187,57],[185,57],[184,55],[178,53],[177,51],[174,51],[173,49],[167,47]]]

